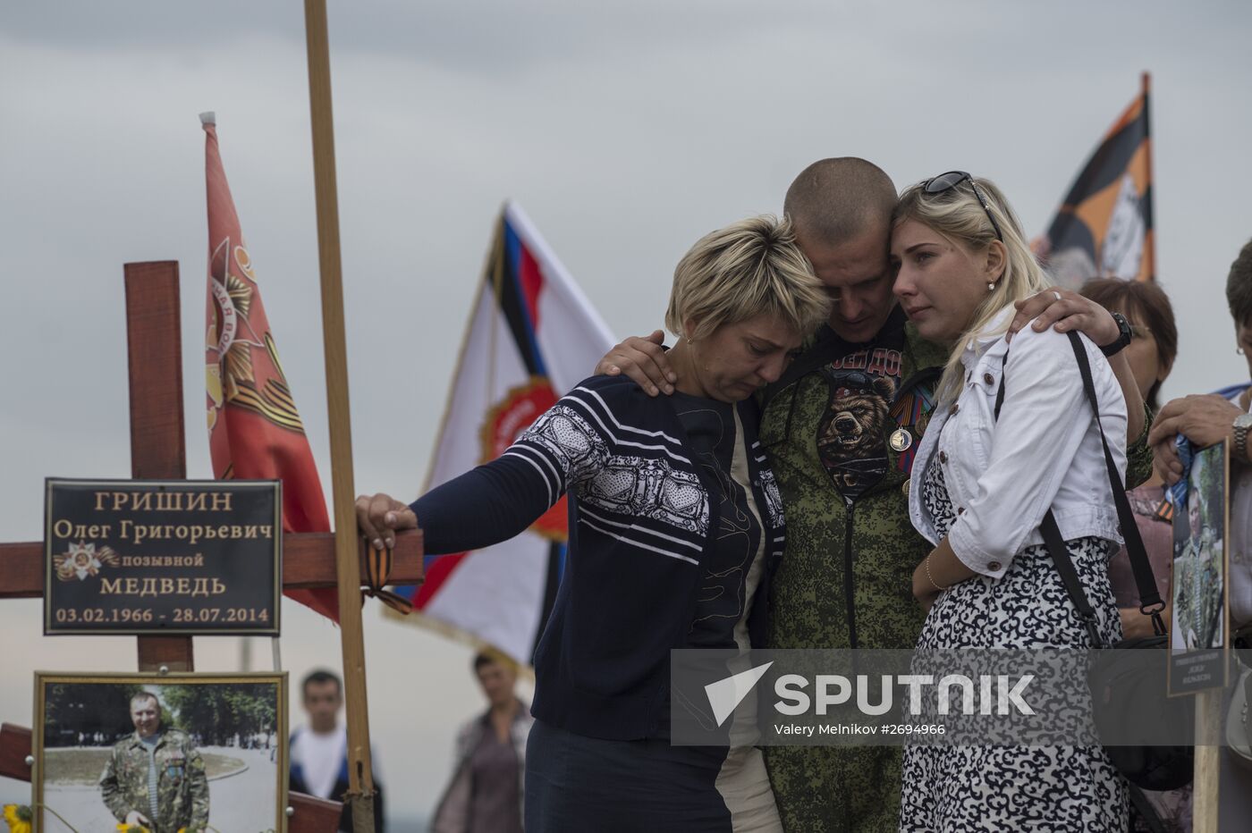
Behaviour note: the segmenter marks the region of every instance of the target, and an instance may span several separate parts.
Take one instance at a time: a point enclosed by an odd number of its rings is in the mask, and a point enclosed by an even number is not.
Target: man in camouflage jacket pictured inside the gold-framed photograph
[[[156,695],[130,698],[135,733],[113,745],[100,794],[121,823],[151,833],[200,833],[209,823],[204,759],[185,732],[162,725]]]

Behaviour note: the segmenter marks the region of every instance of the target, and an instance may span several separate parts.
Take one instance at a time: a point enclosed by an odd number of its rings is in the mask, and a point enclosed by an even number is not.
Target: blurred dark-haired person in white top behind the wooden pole
[[[348,729],[339,724],[343,708],[343,680],[329,670],[309,672],[300,684],[308,727],[292,730],[290,777],[293,792],[343,800],[348,789]],[[383,788],[378,778],[378,755],[371,747],[374,775],[374,832],[383,833]],[[341,830],[352,830],[352,812],[344,807]]]

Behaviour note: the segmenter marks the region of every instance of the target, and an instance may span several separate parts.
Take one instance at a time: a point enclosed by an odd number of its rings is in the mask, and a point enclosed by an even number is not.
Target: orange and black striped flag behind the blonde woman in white
[[[1037,253],[1072,289],[1090,278],[1156,279],[1146,73],[1142,93],[1078,174]]]

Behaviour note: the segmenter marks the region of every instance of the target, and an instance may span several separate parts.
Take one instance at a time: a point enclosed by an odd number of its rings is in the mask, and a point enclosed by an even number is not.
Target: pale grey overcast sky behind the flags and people
[[[865,156],[898,186],[989,176],[1040,233],[1144,69],[1158,274],[1182,334],[1166,394],[1247,375],[1222,294],[1252,235],[1247,3],[329,5],[358,490],[416,495],[506,198],[616,334],[646,333],[691,243],[779,211],[824,156]],[[302,4],[8,0],[0,540],[39,538],[44,477],[129,475],[126,261],[180,264],[188,474],[212,477],[202,110],[329,482]],[[421,815],[478,708],[470,654],[374,608],[376,743],[403,784],[391,808]],[[337,655],[329,625],[284,617],[294,675]],[[39,633],[38,602],[0,604],[0,719],[30,724],[36,667],[134,668],[133,639]],[[234,640],[197,640],[200,669],[233,657]],[[0,779],[0,800],[24,795]]]

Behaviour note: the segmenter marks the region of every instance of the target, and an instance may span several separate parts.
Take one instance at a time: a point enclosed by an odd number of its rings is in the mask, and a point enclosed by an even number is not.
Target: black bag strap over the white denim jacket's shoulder
[[[1092,381],[1092,369],[1087,359],[1087,349],[1083,346],[1078,333],[1070,330],[1065,335],[1069,336],[1069,345],[1074,349],[1074,358],[1078,360],[1078,371],[1083,378],[1083,391],[1087,394],[1087,403],[1096,416],[1096,428],[1099,429],[1101,444],[1104,447],[1104,464],[1108,468],[1108,483],[1113,490],[1113,503],[1117,505],[1118,528],[1122,538],[1126,539],[1126,552],[1129,555],[1131,570],[1134,573],[1134,583],[1139,590],[1139,612],[1143,615],[1152,617],[1153,633],[1164,635],[1166,625],[1161,619],[1161,610],[1166,605],[1157,592],[1157,579],[1152,572],[1152,562],[1148,560],[1148,553],[1143,547],[1143,538],[1139,535],[1139,525],[1134,520],[1131,502],[1126,497],[1126,487],[1117,472],[1113,453],[1108,448],[1108,438],[1104,435],[1104,427],[1101,424],[1099,401],[1096,398],[1096,384]],[[1004,404],[1004,369],[1008,365],[1008,360],[1009,356],[1005,353],[1004,363],[1000,366],[1000,388],[995,395],[997,419],[1000,415],[1000,406]],[[1083,592],[1083,585],[1078,580],[1078,573],[1074,570],[1074,563],[1069,558],[1069,550],[1065,548],[1065,540],[1060,537],[1060,528],[1057,525],[1057,518],[1052,514],[1052,509],[1048,509],[1048,514],[1043,517],[1043,523],[1039,524],[1039,533],[1043,535],[1048,554],[1057,565],[1057,573],[1060,574],[1060,582],[1065,585],[1065,593],[1069,594],[1069,600],[1073,602],[1079,619],[1082,619],[1088,635],[1090,635],[1092,647],[1108,647],[1104,645],[1103,639],[1099,637],[1099,630],[1096,627],[1096,610],[1092,608],[1087,594]]]

